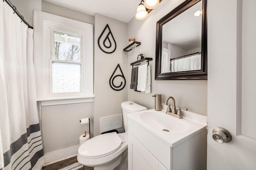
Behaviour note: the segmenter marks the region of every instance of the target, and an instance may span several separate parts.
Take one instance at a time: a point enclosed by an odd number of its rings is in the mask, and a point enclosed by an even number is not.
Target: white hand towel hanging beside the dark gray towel
[[[151,92],[151,75],[150,66],[144,64],[138,68],[138,84],[137,90],[141,92]]]

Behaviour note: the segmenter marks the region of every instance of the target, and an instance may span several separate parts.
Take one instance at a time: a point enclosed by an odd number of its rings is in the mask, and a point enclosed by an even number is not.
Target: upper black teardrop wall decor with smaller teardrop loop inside
[[[108,31],[108,32],[106,32],[106,31]],[[106,35],[106,37],[105,37],[105,35]],[[113,41],[113,42],[111,42],[111,41]],[[102,43],[102,45],[100,45],[101,43]],[[113,45],[112,43],[114,43],[114,47],[112,47],[112,45]],[[103,51],[104,53],[111,54],[111,53],[114,53],[114,51],[116,51],[116,41],[114,39],[114,36],[113,36],[108,24],[103,29],[102,33],[100,34],[100,37],[98,38],[98,45],[99,45],[101,51]]]

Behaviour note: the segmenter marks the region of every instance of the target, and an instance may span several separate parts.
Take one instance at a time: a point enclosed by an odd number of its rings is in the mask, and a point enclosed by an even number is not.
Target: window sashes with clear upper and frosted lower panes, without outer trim
[[[81,92],[82,87],[82,35],[53,31],[51,39],[51,83],[52,93]]]

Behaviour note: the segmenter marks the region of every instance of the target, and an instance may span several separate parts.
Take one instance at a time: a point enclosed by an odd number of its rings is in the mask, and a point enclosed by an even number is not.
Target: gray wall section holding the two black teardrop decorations
[[[98,37],[106,24],[109,25],[117,46],[112,54],[104,53],[98,46]],[[100,134],[100,117],[122,113],[121,103],[127,101],[127,87],[130,86],[127,82],[130,73],[127,71],[127,55],[123,52],[124,47],[128,45],[127,23],[95,14],[94,36],[94,135],[96,136]],[[110,76],[117,64],[120,64],[126,78],[126,86],[120,91],[112,90],[109,85]],[[119,83],[116,82],[116,85]],[[123,132],[123,129],[118,130]]]

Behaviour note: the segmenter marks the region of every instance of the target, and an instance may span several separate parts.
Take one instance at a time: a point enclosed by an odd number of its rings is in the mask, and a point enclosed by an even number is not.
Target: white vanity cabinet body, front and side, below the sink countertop
[[[206,170],[206,137],[204,128],[170,146],[161,135],[128,116],[128,170]]]

